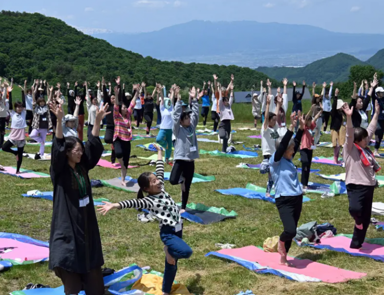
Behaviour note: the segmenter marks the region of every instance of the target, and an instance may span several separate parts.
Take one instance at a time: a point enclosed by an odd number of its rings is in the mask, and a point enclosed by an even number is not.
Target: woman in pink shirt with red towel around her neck
[[[363,250],[362,243],[371,221],[373,193],[377,184],[376,172],[381,169],[373,152],[368,147],[368,143],[377,128],[380,106],[376,101],[375,115],[367,129],[353,127],[353,107],[350,109],[345,103],[343,109],[347,115],[347,135],[343,149],[345,183],[349,200],[349,213],[355,219],[350,248]]]

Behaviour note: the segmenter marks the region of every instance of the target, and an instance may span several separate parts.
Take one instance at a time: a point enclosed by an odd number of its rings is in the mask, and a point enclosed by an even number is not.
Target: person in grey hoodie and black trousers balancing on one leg
[[[172,132],[176,137],[175,150],[173,152],[173,167],[169,182],[172,185],[181,183],[181,211],[187,207],[192,178],[194,174],[194,160],[199,157],[197,146],[196,126],[199,122],[199,105],[195,97],[196,89],[191,89],[192,110],[190,106],[183,103],[180,88],[175,88],[177,101],[173,111]],[[198,94],[198,99],[204,95],[204,90]],[[181,180],[181,181],[180,181]]]

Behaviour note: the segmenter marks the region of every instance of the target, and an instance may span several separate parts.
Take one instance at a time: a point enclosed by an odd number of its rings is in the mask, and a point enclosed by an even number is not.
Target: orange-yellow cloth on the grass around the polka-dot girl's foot
[[[141,279],[137,281],[131,290],[140,290],[152,295],[163,295],[163,278],[161,276],[147,273],[143,274]],[[193,295],[187,287],[182,284],[173,284],[170,295]]]

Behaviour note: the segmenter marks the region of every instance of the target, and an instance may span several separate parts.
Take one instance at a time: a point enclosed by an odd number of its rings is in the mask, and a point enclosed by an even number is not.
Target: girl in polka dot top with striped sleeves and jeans
[[[183,222],[180,211],[172,198],[165,191],[164,187],[164,161],[162,150],[158,150],[156,162],[156,175],[143,173],[137,183],[140,190],[137,199],[127,200],[119,203],[103,202],[97,209],[105,215],[110,209],[139,208],[148,209],[160,220],[160,238],[164,243],[165,270],[163,278],[163,295],[169,295],[177,272],[177,261],[187,259],[192,255],[191,247],[182,239]],[[148,195],[144,197],[143,192]]]

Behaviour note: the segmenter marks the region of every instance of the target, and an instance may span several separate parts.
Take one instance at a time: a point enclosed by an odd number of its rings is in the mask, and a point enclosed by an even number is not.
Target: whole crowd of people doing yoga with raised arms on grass
[[[104,264],[101,238],[93,208],[89,170],[93,169],[104,150],[99,132],[105,126],[104,141],[111,145],[111,162],[116,159],[121,165],[121,181],[125,178],[131,155],[133,129],[138,128],[144,119],[146,134],[150,134],[154,110],[157,114],[156,125],[159,133],[156,138],[158,160],[156,175],[143,173],[137,183],[140,187],[137,199],[119,203],[104,202],[98,211],[106,214],[111,209],[138,208],[148,209],[160,220],[160,237],[164,243],[165,271],[163,281],[164,295],[170,293],[177,271],[177,261],[188,259],[192,255],[191,247],[182,239],[183,222],[181,214],[186,210],[189,192],[194,174],[194,161],[199,158],[195,129],[199,115],[205,126],[211,109],[214,131],[218,131],[222,140],[222,152],[227,152],[231,135],[231,121],[234,120],[232,104],[234,101],[234,76],[225,88],[219,78],[213,75],[214,82],[208,81],[208,88],[189,91],[188,103],[183,102],[180,87],[172,85],[167,92],[165,86],[156,84],[152,93],[147,93],[146,84],[134,84],[132,94],[125,84],[121,87],[120,77],[112,88],[105,79],[97,82],[97,90],[89,89],[84,82],[82,90],[78,83],[71,89],[67,83],[67,115],[64,114],[65,97],[58,83],[56,89],[46,81],[35,80],[30,89],[27,81],[22,89],[22,102],[12,102],[13,81],[6,81],[0,87],[0,147],[3,151],[16,156],[17,173],[22,165],[25,128],[31,140],[40,143],[40,151],[35,158],[44,155],[44,144],[49,130],[53,132],[51,179],[54,185],[54,208],[50,236],[50,269],[62,280],[65,294],[78,294],[83,288],[87,294],[102,295],[101,266]],[[1,81],[0,81],[1,82]],[[349,211],[355,220],[351,248],[361,248],[369,226],[374,189],[375,174],[381,168],[376,161],[378,149],[384,135],[384,89],[379,87],[377,76],[368,85],[361,83],[357,90],[355,83],[350,103],[339,99],[339,89],[332,95],[333,83],[327,90],[315,93],[312,85],[312,101],[309,110],[302,107],[305,81],[302,92],[296,91],[293,82],[293,107],[287,126],[288,80],[284,79],[283,91],[278,88],[272,93],[272,83],[260,82],[260,93],[252,95],[252,116],[254,127],[261,121],[261,150],[264,157],[260,173],[268,174],[268,197],[274,197],[284,231],[281,233],[278,252],[281,264],[291,266],[287,261],[293,238],[302,211],[303,194],[306,193],[312,158],[320,135],[328,132],[333,147],[334,163],[340,164],[342,155],[346,169],[346,186],[349,199]],[[212,88],[212,89],[211,89]],[[45,96],[48,100],[45,100]],[[211,96],[211,97],[210,97]],[[155,100],[156,97],[156,100]],[[85,122],[84,101],[88,118],[87,141],[83,142]],[[202,102],[201,111],[199,102]],[[372,113],[369,114],[369,108]],[[131,117],[134,115],[135,124]],[[370,116],[371,115],[371,116]],[[370,123],[369,119],[370,118]],[[11,132],[4,142],[5,126],[11,119]],[[368,147],[375,135],[375,151]],[[17,150],[11,149],[13,146]],[[171,162],[171,153],[173,161]],[[163,157],[163,150],[165,156]],[[293,158],[300,151],[302,176],[299,181],[297,167]],[[170,184],[181,186],[182,205],[166,192],[164,184],[165,164],[172,165]],[[271,195],[274,187],[275,194]],[[68,222],[68,221],[71,222]]]

